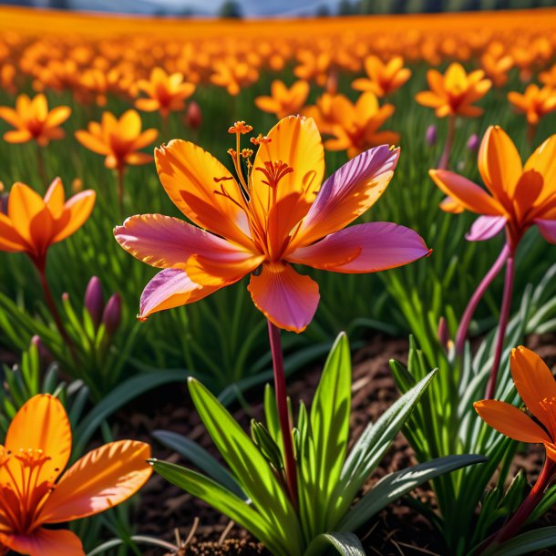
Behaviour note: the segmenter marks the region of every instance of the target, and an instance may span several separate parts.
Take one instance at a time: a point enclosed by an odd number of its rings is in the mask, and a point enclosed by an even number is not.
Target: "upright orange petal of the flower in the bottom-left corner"
[[[60,400],[49,394],[29,399],[10,423],[5,448],[15,453],[20,449],[43,450],[50,459],[41,468],[41,477],[56,479],[71,454],[71,427]]]

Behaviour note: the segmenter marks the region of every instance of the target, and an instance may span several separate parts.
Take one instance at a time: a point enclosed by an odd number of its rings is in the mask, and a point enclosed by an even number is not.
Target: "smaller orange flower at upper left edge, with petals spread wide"
[[[64,130],[59,126],[70,114],[71,108],[67,106],[49,111],[45,95],[36,95],[32,99],[19,95],[15,100],[15,109],[0,107],[0,118],[15,128],[6,131],[4,139],[8,143],[36,140],[41,147],[45,147],[51,140],[64,137]]]

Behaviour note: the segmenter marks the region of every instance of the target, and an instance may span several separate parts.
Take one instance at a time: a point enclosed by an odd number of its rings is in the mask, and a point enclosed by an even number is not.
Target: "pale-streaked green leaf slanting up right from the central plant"
[[[416,386],[397,399],[375,424],[371,423],[366,427],[357,440],[345,461],[342,474],[333,493],[333,503],[330,504],[328,509],[328,529],[336,529],[337,522],[344,517],[357,492],[376,468],[380,458],[385,454],[392,440],[417,406],[419,398],[437,374],[437,370],[428,373]]]

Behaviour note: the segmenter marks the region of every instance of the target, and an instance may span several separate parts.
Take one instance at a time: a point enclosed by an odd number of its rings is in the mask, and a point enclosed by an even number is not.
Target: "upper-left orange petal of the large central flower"
[[[164,190],[190,221],[243,245],[252,243],[242,225],[240,186],[211,154],[173,139],[155,149],[155,160]]]

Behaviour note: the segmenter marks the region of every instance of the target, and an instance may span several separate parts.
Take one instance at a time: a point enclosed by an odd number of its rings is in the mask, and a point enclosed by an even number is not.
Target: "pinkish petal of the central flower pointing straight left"
[[[252,256],[210,232],[161,214],[131,216],[114,229],[114,236],[134,257],[159,268],[185,266],[191,255],[222,263]]]

